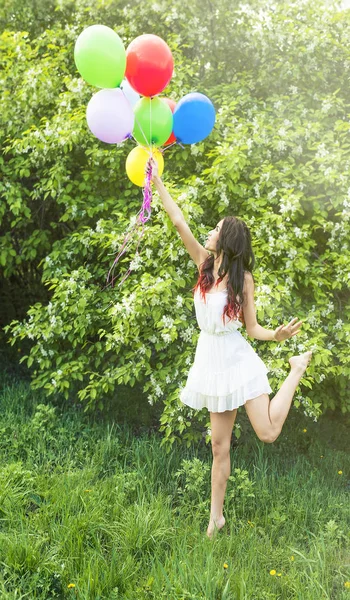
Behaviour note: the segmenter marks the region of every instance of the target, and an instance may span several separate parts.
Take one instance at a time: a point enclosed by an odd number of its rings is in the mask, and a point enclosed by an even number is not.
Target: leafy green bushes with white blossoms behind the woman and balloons
[[[61,0],[57,18],[48,4],[28,31],[21,2],[10,7],[22,30],[0,38],[0,275],[7,289],[33,290],[25,300],[15,295],[17,316],[6,328],[12,344],[31,343],[22,360],[33,388],[95,411],[118,386],[138,384],[145,402],[164,405],[167,452],[209,426],[207,411],[179,401],[198,337],[190,293],[197,269],[157,195],[140,256],[134,240],[118,263],[122,277],[131,261],[130,277],[105,286],[142,198],[125,173],[131,145],[103,144],[86,125],[96,90],[79,77],[73,48],[84,27],[103,22],[126,45],[145,31],[163,37],[176,68],[167,96],[198,90],[215,103],[214,132],[168,150],[164,179],[201,242],[226,214],[249,225],[258,321],[271,329],[303,321],[283,344],[249,340],[274,392],[287,357],[312,349],[295,406],[313,419],[327,408],[349,411],[350,11],[311,1],[300,10],[262,1],[203,9],[199,0]]]

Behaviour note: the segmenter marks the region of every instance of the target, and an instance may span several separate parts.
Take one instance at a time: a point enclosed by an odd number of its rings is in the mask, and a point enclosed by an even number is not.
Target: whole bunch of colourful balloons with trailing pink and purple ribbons
[[[143,187],[143,204],[135,223],[135,227],[142,224],[140,243],[144,223],[151,214],[152,173],[147,169],[150,157],[162,175],[161,147],[195,144],[207,137],[215,124],[214,106],[207,96],[197,92],[187,94],[178,103],[159,97],[171,80],[174,60],[169,46],[157,35],[141,35],[125,50],[113,29],[92,25],[79,35],[74,59],[85,81],[104,88],[92,96],[87,106],[90,131],[108,144],[128,139],[137,142],[126,159],[126,173],[135,185]],[[107,284],[131,233],[114,260]],[[111,285],[113,282],[112,277]]]

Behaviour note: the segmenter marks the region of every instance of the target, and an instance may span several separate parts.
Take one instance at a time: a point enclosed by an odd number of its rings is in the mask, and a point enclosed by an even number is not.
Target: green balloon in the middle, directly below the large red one
[[[173,130],[173,113],[161,98],[144,97],[134,106],[133,135],[142,146],[161,146]]]

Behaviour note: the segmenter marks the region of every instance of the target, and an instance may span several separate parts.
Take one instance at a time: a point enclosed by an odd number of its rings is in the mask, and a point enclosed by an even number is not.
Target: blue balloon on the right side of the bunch
[[[181,98],[174,111],[173,133],[182,144],[204,140],[215,125],[215,108],[204,94],[192,92]]]

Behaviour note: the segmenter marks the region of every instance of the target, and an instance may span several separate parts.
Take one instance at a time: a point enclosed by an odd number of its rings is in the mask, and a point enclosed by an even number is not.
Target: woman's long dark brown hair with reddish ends
[[[244,324],[243,314],[243,285],[244,272],[252,271],[255,265],[255,256],[252,249],[250,230],[247,224],[237,217],[225,217],[216,243],[216,254],[219,256],[223,251],[223,258],[218,269],[218,280],[216,285],[223,280],[228,272],[227,298],[222,320],[225,324],[225,315],[228,319],[239,319]],[[196,285],[192,288],[193,293],[197,288],[204,301],[205,294],[214,283],[214,254],[210,254],[202,263],[200,274]]]

